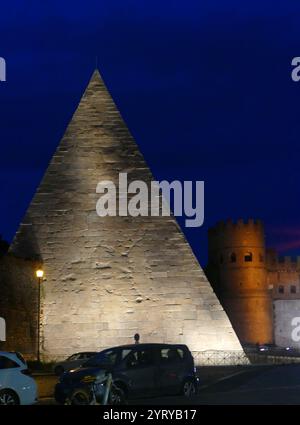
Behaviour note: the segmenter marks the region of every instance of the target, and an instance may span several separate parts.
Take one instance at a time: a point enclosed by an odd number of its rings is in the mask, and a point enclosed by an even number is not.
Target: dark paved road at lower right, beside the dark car
[[[44,400],[42,404],[53,404]],[[300,404],[300,365],[249,369],[202,388],[197,397],[138,400],[139,405]]]

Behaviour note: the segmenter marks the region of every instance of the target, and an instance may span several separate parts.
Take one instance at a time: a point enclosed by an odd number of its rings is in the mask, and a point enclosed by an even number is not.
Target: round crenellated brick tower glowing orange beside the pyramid
[[[209,230],[207,276],[240,339],[273,341],[264,228],[260,221],[219,222]]]

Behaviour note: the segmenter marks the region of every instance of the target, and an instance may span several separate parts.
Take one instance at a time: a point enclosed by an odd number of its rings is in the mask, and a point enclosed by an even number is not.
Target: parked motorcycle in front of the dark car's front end
[[[66,405],[121,405],[125,404],[125,394],[118,388],[111,373],[102,371],[96,376],[85,376],[84,386],[75,389],[66,400]]]

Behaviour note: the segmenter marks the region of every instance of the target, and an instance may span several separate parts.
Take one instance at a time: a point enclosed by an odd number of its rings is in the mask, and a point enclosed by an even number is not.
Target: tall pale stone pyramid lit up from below
[[[154,180],[95,71],[10,249],[43,263],[43,359],[132,343],[135,333],[187,344],[198,363],[205,353],[243,358],[173,216],[97,215],[97,184],[120,172]]]

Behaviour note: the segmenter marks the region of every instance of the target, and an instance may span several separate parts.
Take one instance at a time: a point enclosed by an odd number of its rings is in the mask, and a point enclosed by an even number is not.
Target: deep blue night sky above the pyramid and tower
[[[300,253],[299,0],[1,4],[0,233],[11,240],[95,67],[157,179],[205,180],[205,225]]]

